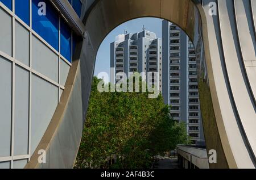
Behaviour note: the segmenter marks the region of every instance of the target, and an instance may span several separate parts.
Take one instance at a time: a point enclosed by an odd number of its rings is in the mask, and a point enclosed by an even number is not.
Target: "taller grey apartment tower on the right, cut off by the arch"
[[[187,124],[192,143],[204,140],[197,82],[196,52],[185,32],[163,20],[163,98],[171,116]]]

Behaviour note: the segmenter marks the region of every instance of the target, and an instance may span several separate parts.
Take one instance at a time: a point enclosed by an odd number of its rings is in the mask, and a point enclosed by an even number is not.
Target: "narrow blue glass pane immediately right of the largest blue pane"
[[[71,28],[60,20],[60,53],[71,62]]]

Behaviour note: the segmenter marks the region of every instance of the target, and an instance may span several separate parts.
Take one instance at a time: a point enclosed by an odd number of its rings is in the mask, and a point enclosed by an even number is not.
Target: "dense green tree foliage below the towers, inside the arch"
[[[76,168],[150,168],[152,157],[187,143],[161,95],[99,93],[100,81],[93,78]]]

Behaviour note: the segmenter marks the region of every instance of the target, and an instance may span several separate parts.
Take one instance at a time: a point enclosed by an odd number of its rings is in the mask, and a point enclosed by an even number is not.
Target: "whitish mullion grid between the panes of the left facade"
[[[10,162],[10,168],[14,168],[14,161],[16,160],[28,160],[30,161],[31,158],[31,96],[32,96],[32,75],[38,76],[48,83],[51,83],[51,85],[58,87],[58,99],[60,102],[60,90],[65,90],[65,87],[60,85],[60,61],[63,60],[65,63],[67,63],[69,66],[72,66],[72,57],[73,57],[73,31],[71,34],[71,62],[69,62],[64,56],[60,54],[60,15],[59,15],[59,52],[55,51],[54,48],[51,47],[42,37],[40,37],[36,32],[32,30],[32,0],[30,0],[30,26],[27,26],[26,23],[24,23],[18,16],[15,15],[15,0],[13,1],[12,8],[13,10],[10,11],[7,7],[0,5],[3,11],[5,11],[7,14],[11,16],[11,26],[12,26],[12,57],[9,55],[6,55],[6,53],[0,51],[0,56],[4,57],[6,60],[11,61],[12,63],[12,103],[11,103],[11,152],[10,156],[8,157],[0,157],[0,163],[1,162]],[[15,58],[15,22],[18,22],[23,28],[25,28],[29,32],[29,66],[24,65],[19,60],[16,60]],[[43,74],[40,74],[39,72],[36,72],[36,70],[32,69],[32,36],[35,36],[39,39],[39,41],[42,41],[44,45],[46,45],[53,53],[55,53],[58,56],[58,82],[53,81],[52,79],[44,76]],[[14,155],[14,128],[15,128],[15,66],[18,65],[23,70],[27,70],[29,72],[29,112],[28,112],[28,154],[15,156]]]

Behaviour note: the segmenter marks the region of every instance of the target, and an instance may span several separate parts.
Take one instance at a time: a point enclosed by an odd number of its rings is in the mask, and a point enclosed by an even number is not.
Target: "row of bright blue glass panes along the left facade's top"
[[[0,0],[12,10],[13,0]],[[15,0],[15,15],[30,26],[30,0]],[[72,49],[76,40],[72,40],[72,30],[57,13],[48,0],[32,0],[32,30],[41,36],[51,47],[72,62]],[[81,15],[82,2],[69,0],[77,15]],[[60,42],[59,42],[60,41]],[[74,43],[72,45],[72,43]]]

